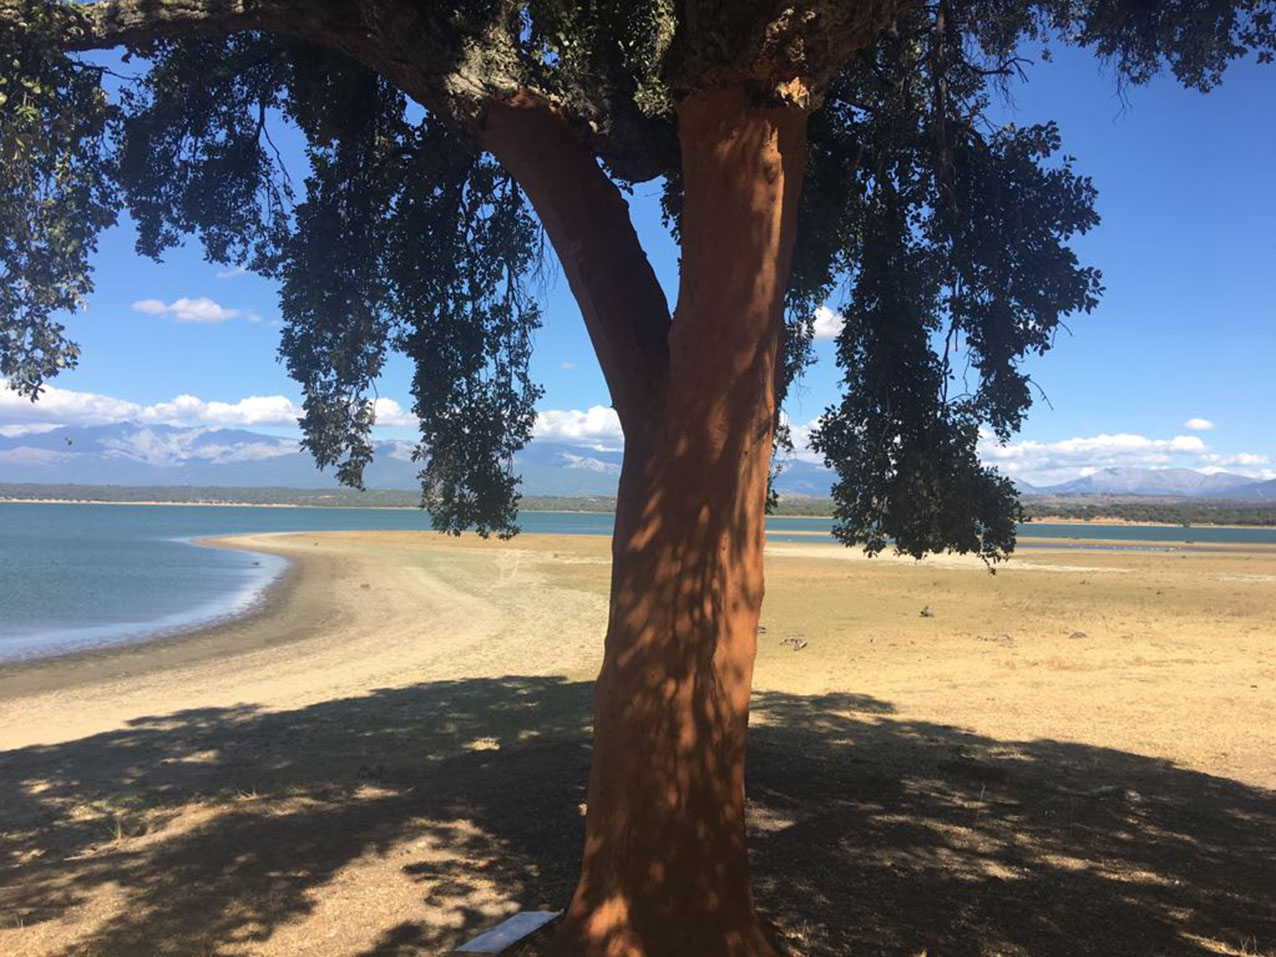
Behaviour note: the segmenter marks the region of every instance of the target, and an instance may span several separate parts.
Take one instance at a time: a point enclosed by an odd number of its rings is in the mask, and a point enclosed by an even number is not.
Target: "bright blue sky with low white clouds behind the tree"
[[[1106,295],[1030,365],[1050,406],[1037,402],[1016,441],[985,454],[1036,482],[1122,464],[1276,477],[1276,69],[1234,65],[1207,96],[1164,78],[1124,98],[1083,52],[1055,51],[1027,74],[999,111],[1057,120],[1095,180],[1102,223],[1076,249],[1102,269]],[[676,250],[657,200],[647,184],[630,205],[672,301]],[[533,360],[546,389],[540,431],[614,445],[602,378],[554,273]],[[126,222],[103,235],[96,276],[88,308],[68,322],[80,366],[34,407],[0,392],[0,429],[145,419],[295,433],[300,393],[276,361],[273,283],[203,262],[197,242],[163,263],[139,258]],[[817,351],[787,408],[799,426],[837,397],[832,343]],[[407,382],[396,361],[379,384],[387,436],[411,435]]]

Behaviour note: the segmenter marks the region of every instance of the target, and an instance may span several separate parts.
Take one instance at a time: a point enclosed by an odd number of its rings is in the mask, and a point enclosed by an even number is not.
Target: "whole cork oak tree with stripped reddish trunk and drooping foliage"
[[[814,310],[847,290],[846,394],[815,445],[837,535],[878,551],[1013,547],[980,464],[1021,367],[1100,276],[1050,125],[986,112],[1025,50],[1208,89],[1276,50],[1272,0],[0,0],[0,374],[74,364],[57,316],[126,207],[140,251],[189,234],[277,277],[305,444],[360,485],[366,397],[416,361],[438,528],[517,531],[547,235],[625,434],[579,884],[563,953],[769,953],[749,891],[744,757],[763,521]],[[117,97],[79,54],[124,46]],[[269,130],[308,142],[288,179]],[[625,190],[664,184],[670,310]],[[975,385],[951,394],[954,370]]]

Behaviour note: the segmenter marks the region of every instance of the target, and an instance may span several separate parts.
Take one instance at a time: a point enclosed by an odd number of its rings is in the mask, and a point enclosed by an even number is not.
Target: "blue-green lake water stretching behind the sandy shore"
[[[611,532],[607,514],[528,512],[519,521],[533,533]],[[416,509],[0,503],[0,661],[198,628],[251,607],[286,567],[273,555],[197,546],[191,538],[429,527]],[[772,518],[768,537],[824,542],[831,527],[827,518]],[[1276,528],[1034,523],[1020,531],[1053,546],[1276,545]]]

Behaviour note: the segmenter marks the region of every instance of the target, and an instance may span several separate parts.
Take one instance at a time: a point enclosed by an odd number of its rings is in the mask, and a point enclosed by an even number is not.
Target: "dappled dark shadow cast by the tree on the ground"
[[[584,683],[438,681],[288,712],[138,718],[4,753],[5,923],[36,930],[108,896],[110,916],[63,952],[269,949],[373,855],[415,882],[419,906],[369,909],[362,919],[380,923],[364,951],[444,952],[491,923],[493,894],[567,903],[590,712]],[[754,716],[754,883],[795,953],[1276,943],[1270,791],[1123,752],[901,721],[861,695],[764,692]]]

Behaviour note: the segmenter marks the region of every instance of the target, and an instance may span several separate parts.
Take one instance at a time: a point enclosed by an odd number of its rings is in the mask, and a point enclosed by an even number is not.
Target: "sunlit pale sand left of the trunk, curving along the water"
[[[417,532],[204,544],[282,555],[291,568],[260,606],[230,623],[0,669],[0,749],[114,730],[139,713],[226,702],[287,708],[425,679],[583,678],[601,653],[598,598],[556,596],[550,609],[535,593],[537,573],[526,559],[555,547],[555,536],[541,536],[536,551],[457,546]],[[560,545],[579,542],[564,536]],[[575,667],[547,666],[527,639],[524,629],[535,628],[578,635],[569,656]]]

